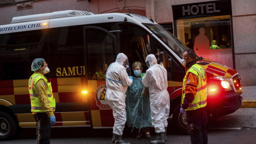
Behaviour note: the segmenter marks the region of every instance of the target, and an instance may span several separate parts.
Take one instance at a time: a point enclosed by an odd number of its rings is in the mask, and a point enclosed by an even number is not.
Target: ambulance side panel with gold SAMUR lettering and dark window
[[[58,127],[90,127],[89,101],[85,91],[83,26],[49,29],[47,78],[56,100]]]

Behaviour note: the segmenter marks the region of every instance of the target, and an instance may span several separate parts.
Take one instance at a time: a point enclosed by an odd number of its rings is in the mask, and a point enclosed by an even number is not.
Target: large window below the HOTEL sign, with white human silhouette
[[[230,15],[179,19],[177,37],[199,57],[233,67]]]

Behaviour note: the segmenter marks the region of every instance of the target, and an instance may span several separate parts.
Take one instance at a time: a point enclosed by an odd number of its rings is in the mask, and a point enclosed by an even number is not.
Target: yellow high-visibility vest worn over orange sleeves
[[[189,104],[186,110],[196,110],[196,109],[205,107],[207,104],[206,74],[204,69],[198,64],[194,64],[187,70],[187,73],[183,78],[182,98],[181,98],[182,103],[185,97],[186,76],[189,72],[197,76],[198,84],[196,87],[196,95],[194,97],[194,100],[192,101],[192,103]]]

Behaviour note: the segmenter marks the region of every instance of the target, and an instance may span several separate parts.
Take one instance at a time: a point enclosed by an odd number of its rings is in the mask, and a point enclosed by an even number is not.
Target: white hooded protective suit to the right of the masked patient
[[[149,87],[152,125],[155,127],[156,133],[165,132],[170,111],[167,70],[157,64],[153,54],[147,55],[146,63],[150,64],[150,68],[142,78],[142,84]]]

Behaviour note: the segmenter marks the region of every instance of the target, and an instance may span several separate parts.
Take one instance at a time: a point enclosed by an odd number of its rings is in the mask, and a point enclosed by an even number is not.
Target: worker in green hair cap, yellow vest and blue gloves
[[[34,59],[31,64],[34,74],[29,78],[28,89],[31,102],[31,112],[37,122],[37,144],[50,143],[51,125],[55,124],[55,99],[51,82],[44,74],[50,70],[44,59]]]

